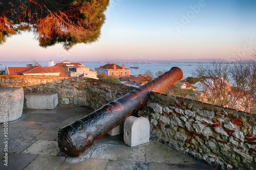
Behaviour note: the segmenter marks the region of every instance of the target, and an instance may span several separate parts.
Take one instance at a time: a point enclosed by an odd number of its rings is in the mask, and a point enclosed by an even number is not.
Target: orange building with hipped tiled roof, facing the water
[[[115,76],[117,78],[130,76],[130,68],[124,68],[124,64],[119,66],[115,63],[105,64],[100,67],[96,67],[97,74],[104,74],[107,76]]]

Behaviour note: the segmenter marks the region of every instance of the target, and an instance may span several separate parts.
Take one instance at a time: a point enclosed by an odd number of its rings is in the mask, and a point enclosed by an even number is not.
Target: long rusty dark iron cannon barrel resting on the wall
[[[181,80],[182,77],[182,70],[173,67],[157,79],[59,129],[58,145],[60,151],[71,156],[81,155],[100,137],[123,123],[127,117],[135,112],[134,109],[145,106],[150,91],[160,93],[176,81]]]

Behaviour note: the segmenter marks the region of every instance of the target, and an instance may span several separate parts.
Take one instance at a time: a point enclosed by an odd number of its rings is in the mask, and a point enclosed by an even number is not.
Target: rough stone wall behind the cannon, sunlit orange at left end
[[[3,75],[0,82],[0,87],[23,87],[24,92],[58,93],[59,104],[87,106],[94,110],[134,89],[90,78],[59,76]]]

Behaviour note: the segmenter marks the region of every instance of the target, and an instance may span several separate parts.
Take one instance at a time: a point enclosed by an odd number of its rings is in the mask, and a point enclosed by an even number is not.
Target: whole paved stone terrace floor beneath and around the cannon
[[[8,124],[8,166],[4,165],[4,125],[0,124],[0,169],[214,169],[152,140],[129,147],[122,135],[103,136],[79,157],[60,152],[58,129],[90,112],[74,106],[24,109],[22,117]]]

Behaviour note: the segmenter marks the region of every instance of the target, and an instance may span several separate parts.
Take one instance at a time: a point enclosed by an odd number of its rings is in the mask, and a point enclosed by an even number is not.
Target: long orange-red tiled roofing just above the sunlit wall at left
[[[65,72],[60,66],[56,67],[8,67],[9,75],[23,75],[23,74],[38,74],[38,73],[53,73],[59,72],[59,76],[66,76]]]

